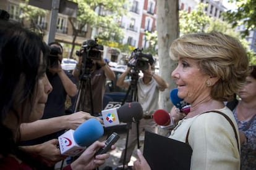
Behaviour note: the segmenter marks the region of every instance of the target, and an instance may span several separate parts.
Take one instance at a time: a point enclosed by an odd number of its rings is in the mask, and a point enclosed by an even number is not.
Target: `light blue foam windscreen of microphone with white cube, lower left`
[[[104,134],[100,121],[90,118],[77,127],[74,131],[74,140],[81,147],[88,147]]]

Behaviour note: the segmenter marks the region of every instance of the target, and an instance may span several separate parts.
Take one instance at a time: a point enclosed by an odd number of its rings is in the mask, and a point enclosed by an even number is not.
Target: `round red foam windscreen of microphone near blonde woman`
[[[171,123],[171,118],[166,110],[158,109],[153,114],[153,119],[156,124],[161,126],[168,126]]]

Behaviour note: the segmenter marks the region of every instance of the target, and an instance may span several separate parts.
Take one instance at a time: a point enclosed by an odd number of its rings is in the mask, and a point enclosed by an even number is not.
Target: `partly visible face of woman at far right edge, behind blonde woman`
[[[244,86],[238,91],[238,95],[242,100],[256,100],[256,79],[252,76],[247,76]]]

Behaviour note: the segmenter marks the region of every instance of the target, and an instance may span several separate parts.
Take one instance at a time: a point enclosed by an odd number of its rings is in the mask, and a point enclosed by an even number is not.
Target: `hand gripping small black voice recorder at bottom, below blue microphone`
[[[102,147],[104,147],[104,142],[99,142],[98,140],[94,142],[90,147],[88,147],[82,155],[77,158],[73,163],[70,164],[73,170],[89,170],[95,169],[101,164],[105,163],[105,160],[109,158],[109,153],[104,153],[101,155],[96,155],[95,153]],[[114,150],[116,147],[114,145],[111,146],[111,149]]]

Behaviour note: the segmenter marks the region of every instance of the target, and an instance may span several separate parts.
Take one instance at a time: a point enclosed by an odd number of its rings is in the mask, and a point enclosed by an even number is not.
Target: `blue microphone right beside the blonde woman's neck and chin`
[[[179,96],[177,95],[178,89],[174,88],[171,90],[170,92],[170,100],[173,103],[173,105],[176,108],[179,108],[179,110],[183,113],[189,113],[190,111],[190,104],[185,102],[184,99],[179,98]]]

